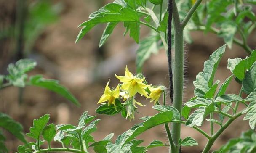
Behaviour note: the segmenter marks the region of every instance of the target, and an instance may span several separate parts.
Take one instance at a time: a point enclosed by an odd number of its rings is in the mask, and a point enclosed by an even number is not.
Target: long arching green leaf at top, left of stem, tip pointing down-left
[[[132,21],[140,22],[139,14],[130,8],[121,8],[120,13],[105,13],[102,16],[96,16],[88,21],[83,22],[79,27],[83,26],[80,33],[77,36],[76,42],[78,42],[89,30],[91,30],[96,24],[108,23],[108,22],[123,22]]]

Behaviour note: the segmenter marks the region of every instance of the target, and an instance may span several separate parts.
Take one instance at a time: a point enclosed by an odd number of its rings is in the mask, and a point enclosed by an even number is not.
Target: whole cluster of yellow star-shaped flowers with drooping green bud
[[[115,100],[118,99],[121,101],[122,99],[122,105],[126,108],[126,119],[134,119],[134,112],[138,108],[136,104],[138,106],[145,106],[135,100],[135,95],[137,93],[147,99],[151,98],[150,102],[154,101],[154,104],[158,104],[158,100],[162,92],[165,92],[165,87],[163,86],[154,87],[152,85],[148,85],[142,74],[133,76],[127,66],[125,68],[125,76],[117,76],[115,74],[115,77],[122,83],[118,84],[116,88],[111,90],[108,81],[104,94],[99,99],[98,104],[108,102],[108,106],[112,104],[116,109]]]

